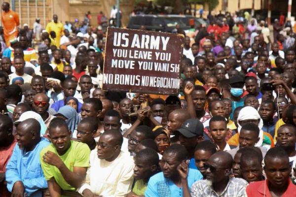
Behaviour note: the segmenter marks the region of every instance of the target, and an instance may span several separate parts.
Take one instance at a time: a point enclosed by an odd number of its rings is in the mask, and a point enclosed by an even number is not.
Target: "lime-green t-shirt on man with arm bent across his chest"
[[[87,144],[71,140],[70,148],[62,156],[57,153],[53,144],[48,145],[40,152],[40,163],[45,179],[48,181],[53,177],[62,190],[75,191],[76,189],[65,181],[62,173],[56,166],[43,162],[42,157],[47,151],[51,151],[59,156],[68,169],[73,172],[73,167],[89,166],[90,149]]]

